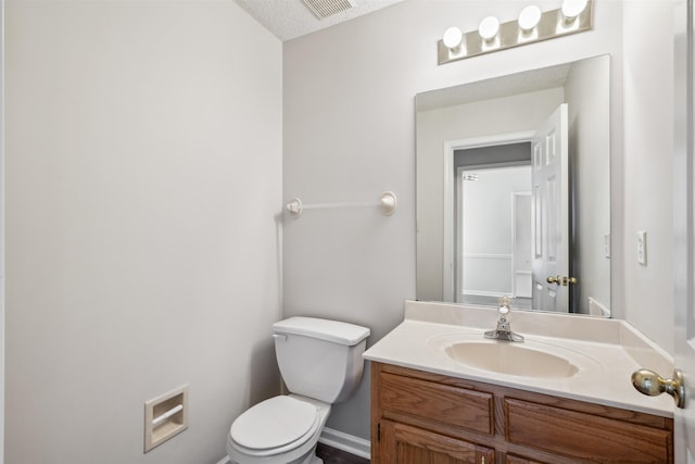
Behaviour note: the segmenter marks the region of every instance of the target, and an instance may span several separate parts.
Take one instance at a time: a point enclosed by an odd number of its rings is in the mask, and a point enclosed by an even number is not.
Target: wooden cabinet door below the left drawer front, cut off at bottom
[[[494,464],[494,450],[391,421],[381,421],[382,464]]]

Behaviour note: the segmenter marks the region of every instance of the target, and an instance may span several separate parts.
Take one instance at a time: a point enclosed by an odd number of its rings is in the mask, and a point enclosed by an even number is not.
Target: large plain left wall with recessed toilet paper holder
[[[215,463],[279,390],[281,85],[233,2],[7,3],[7,463]]]

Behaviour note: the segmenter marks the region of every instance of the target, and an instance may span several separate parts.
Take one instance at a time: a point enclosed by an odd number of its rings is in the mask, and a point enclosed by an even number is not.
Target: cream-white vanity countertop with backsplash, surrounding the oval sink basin
[[[630,377],[641,367],[670,377],[672,359],[624,321],[552,313],[516,312],[511,329],[527,348],[545,349],[580,367],[568,378],[530,378],[482,371],[451,359],[455,341],[484,340],[493,329],[494,309],[406,301],[405,321],[369,348],[364,358],[452,377],[519,388],[631,411],[673,417],[668,394],[647,397]],[[505,343],[505,341],[500,341]]]

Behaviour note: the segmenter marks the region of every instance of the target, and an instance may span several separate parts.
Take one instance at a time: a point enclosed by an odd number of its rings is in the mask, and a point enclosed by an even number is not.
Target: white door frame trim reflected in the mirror
[[[456,301],[456,249],[454,196],[456,195],[456,172],[454,171],[454,151],[469,148],[492,147],[530,142],[535,130],[519,133],[495,134],[492,136],[472,137],[466,139],[444,140],[444,228],[442,250],[442,294],[444,301]]]

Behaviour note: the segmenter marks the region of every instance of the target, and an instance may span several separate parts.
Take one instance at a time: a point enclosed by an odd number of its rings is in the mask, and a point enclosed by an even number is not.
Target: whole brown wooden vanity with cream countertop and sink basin
[[[367,352],[371,462],[673,463],[673,401],[631,384],[668,354],[622,321],[514,313],[523,342],[485,340],[496,312],[405,303]]]

